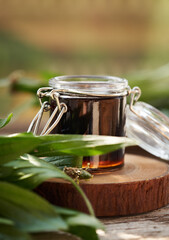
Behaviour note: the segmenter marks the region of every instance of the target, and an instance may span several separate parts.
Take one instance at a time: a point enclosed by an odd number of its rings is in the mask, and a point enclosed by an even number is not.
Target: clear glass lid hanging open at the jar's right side
[[[169,160],[169,118],[145,102],[127,106],[127,136],[149,153]]]

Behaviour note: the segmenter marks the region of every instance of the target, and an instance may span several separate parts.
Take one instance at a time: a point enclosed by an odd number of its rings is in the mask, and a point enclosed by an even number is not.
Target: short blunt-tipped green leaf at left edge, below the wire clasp
[[[32,133],[0,136],[0,164],[11,161],[35,149],[40,142],[40,139],[33,136]]]

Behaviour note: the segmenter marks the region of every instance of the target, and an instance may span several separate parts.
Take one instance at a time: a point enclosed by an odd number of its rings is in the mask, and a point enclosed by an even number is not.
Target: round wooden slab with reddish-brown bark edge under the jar
[[[169,165],[152,157],[126,154],[125,165],[107,174],[80,181],[96,216],[124,216],[144,213],[169,203]],[[88,212],[74,189],[63,180],[41,184],[40,195],[58,206]]]

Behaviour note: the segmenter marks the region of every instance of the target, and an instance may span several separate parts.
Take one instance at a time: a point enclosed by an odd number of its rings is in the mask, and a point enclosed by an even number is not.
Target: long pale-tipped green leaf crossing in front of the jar
[[[101,155],[120,148],[136,145],[126,137],[96,135],[48,135],[37,137],[41,140],[31,153],[38,157],[56,155],[93,156]]]

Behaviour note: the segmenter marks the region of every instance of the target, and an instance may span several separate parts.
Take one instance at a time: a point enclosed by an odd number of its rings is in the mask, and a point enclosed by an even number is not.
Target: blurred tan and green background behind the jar
[[[25,131],[37,111],[18,79],[58,74],[126,77],[168,114],[168,12],[167,0],[0,0],[0,118],[14,112],[3,131]]]

